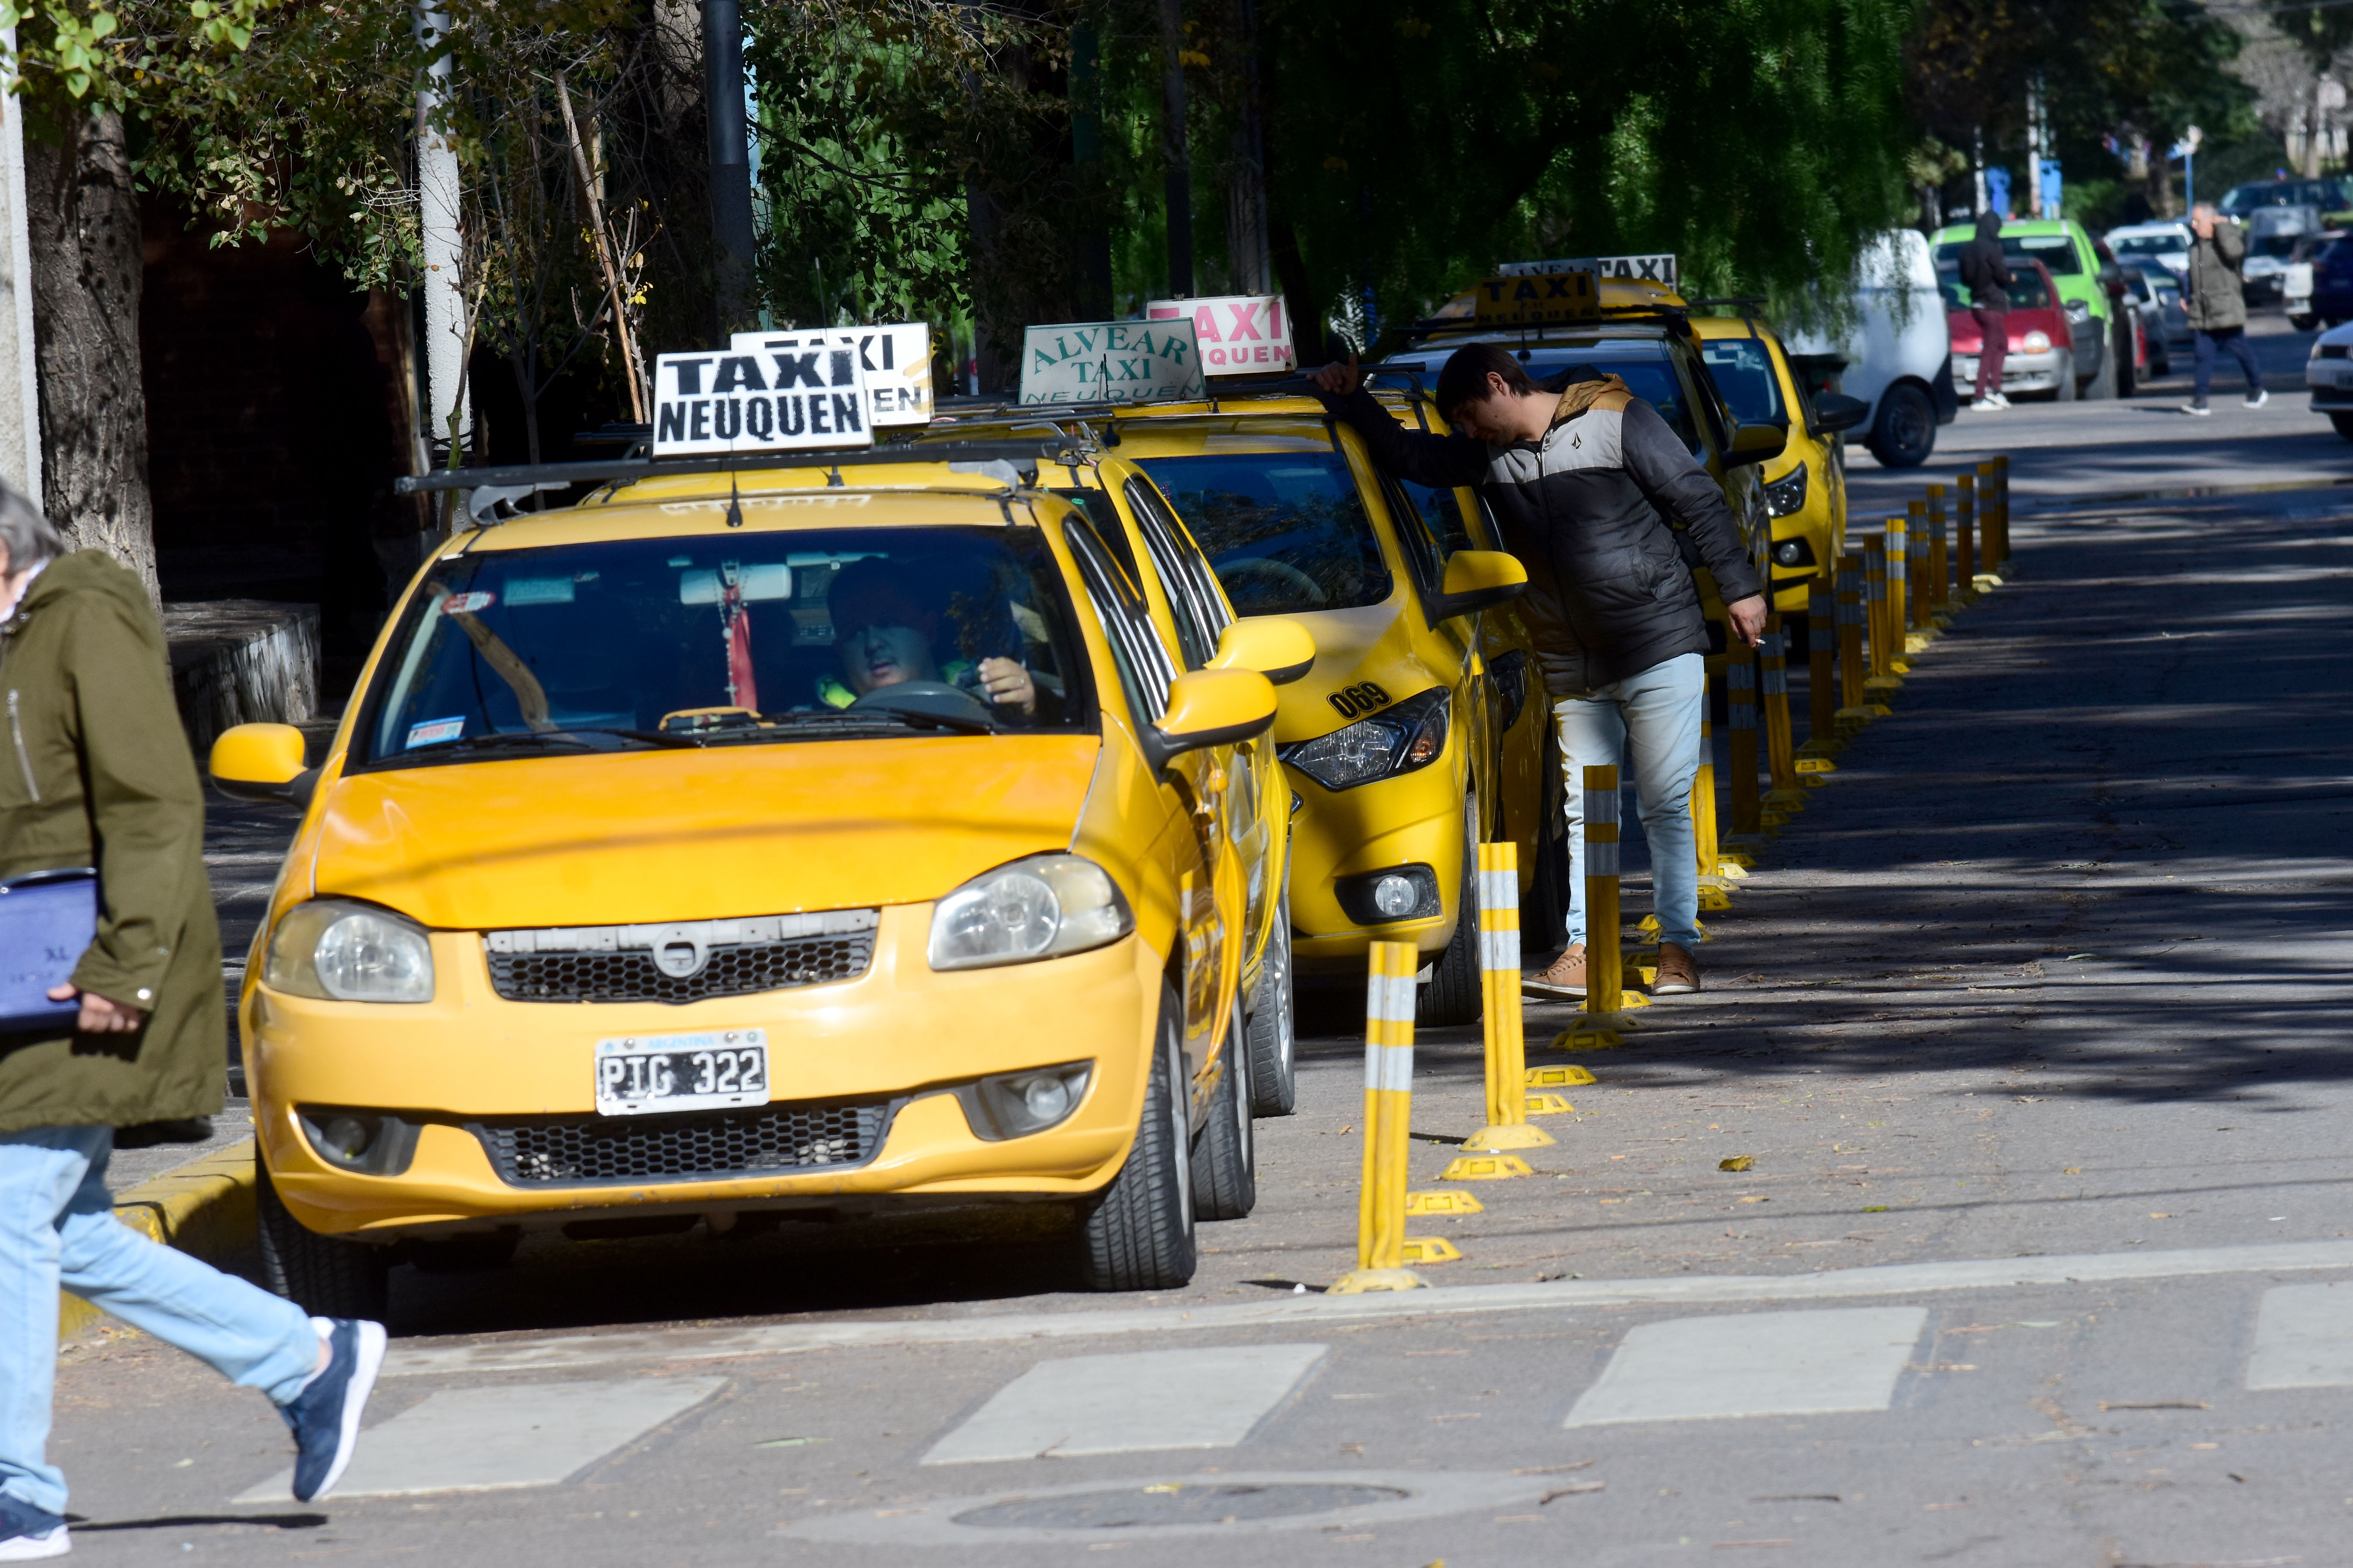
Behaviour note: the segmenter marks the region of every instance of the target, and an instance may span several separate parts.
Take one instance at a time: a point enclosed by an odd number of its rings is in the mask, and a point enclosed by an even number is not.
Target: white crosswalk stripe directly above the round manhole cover
[[[1325,1345],[1226,1345],[1040,1361],[922,1458],[1231,1448],[1315,1368]]]

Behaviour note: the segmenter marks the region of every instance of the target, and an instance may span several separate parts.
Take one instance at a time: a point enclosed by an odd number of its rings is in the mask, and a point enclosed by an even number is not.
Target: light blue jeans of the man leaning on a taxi
[[[1569,940],[1586,940],[1586,776],[1588,766],[1633,773],[1642,839],[1649,844],[1652,912],[1659,940],[1699,950],[1699,842],[1692,835],[1692,778],[1699,773],[1699,715],[1708,701],[1706,663],[1678,654],[1640,675],[1553,703],[1560,724],[1562,802],[1569,818]],[[1624,778],[1624,776],[1621,776]]]

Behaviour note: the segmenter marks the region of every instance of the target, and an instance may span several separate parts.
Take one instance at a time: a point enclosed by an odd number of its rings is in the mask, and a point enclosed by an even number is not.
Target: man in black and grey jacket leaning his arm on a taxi
[[[1454,350],[1438,409],[1464,435],[1407,430],[1362,390],[1353,364],[1313,376],[1325,407],[1384,470],[1447,489],[1475,484],[1527,567],[1520,599],[1560,726],[1569,827],[1569,947],[1527,983],[1586,994],[1584,769],[1631,764],[1659,917],[1654,994],[1699,990],[1699,851],[1692,778],[1706,703],[1708,625],[1668,517],[1715,576],[1737,637],[1765,630],[1765,597],[1715,480],[1659,411],[1617,376],[1569,371],[1539,388],[1494,343]]]

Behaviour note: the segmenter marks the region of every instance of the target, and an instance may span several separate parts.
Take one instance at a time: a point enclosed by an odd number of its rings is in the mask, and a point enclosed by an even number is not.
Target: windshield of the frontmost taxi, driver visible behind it
[[[376,663],[358,764],[1085,729],[1035,527],[793,529],[473,550]]]

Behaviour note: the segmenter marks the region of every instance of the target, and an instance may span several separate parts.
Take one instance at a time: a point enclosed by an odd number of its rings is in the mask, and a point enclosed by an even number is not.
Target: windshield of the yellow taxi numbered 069
[[[1193,529],[1238,616],[1388,597],[1388,562],[1341,454],[1219,451],[1136,465]]]

